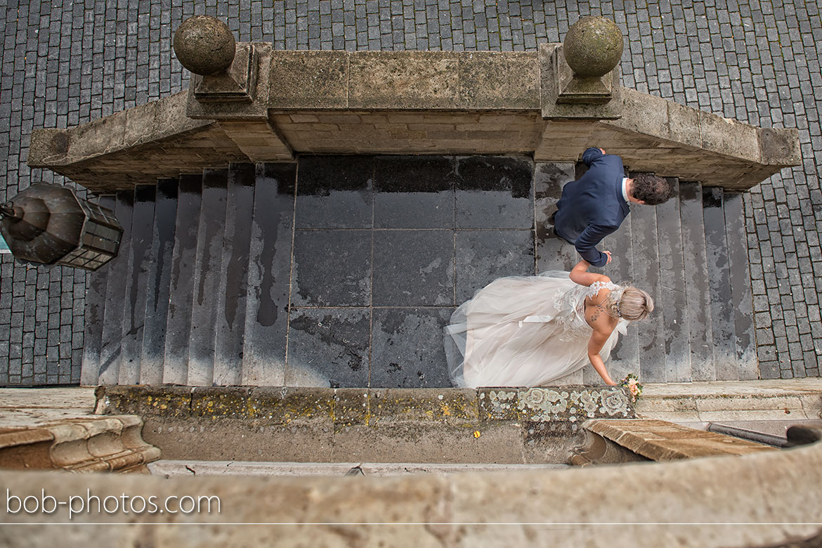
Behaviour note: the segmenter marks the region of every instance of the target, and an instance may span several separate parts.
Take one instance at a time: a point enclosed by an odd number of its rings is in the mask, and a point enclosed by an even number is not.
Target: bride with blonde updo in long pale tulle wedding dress
[[[605,361],[628,322],[653,311],[653,299],[589,266],[496,279],[459,306],[445,328],[454,385],[547,385],[589,362],[616,385]]]

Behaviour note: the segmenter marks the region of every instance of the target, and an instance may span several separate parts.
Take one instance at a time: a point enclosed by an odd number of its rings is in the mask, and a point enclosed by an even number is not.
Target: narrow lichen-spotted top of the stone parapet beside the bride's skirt
[[[584,421],[633,418],[626,390],[557,386],[482,389],[322,389],[294,387],[100,386],[96,412],[142,417],[205,417],[372,426],[441,422],[472,426],[487,421]]]

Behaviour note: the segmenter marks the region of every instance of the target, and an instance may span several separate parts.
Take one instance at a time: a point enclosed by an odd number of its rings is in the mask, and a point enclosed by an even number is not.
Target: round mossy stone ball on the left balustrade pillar
[[[211,16],[193,16],[174,33],[174,55],[194,74],[212,76],[231,67],[237,43],[229,27]]]

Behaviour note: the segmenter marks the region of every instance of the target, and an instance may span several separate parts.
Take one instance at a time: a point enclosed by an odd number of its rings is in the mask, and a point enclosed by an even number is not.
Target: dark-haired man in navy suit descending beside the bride
[[[640,173],[626,178],[622,159],[605,150],[589,148],[582,154],[589,170],[579,180],[562,188],[556,202],[554,230],[593,266],[611,262],[611,252],[597,244],[614,233],[630,213],[629,202],[659,205],[671,197],[671,187],[663,177]]]

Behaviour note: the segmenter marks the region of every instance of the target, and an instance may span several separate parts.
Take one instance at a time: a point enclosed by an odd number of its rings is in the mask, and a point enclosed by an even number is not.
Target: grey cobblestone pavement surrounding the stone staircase
[[[0,198],[62,182],[26,167],[32,128],[73,126],[186,87],[171,37],[194,14],[278,49],[502,51],[559,41],[580,16],[612,17],[626,34],[623,85],[756,126],[799,128],[801,167],[745,196],[750,274],[763,375],[820,375],[822,23],[813,2],[2,3]],[[84,295],[81,271],[2,256],[0,385],[79,380]]]

